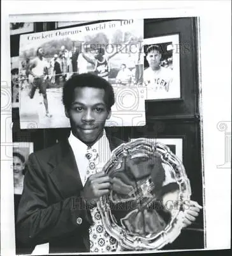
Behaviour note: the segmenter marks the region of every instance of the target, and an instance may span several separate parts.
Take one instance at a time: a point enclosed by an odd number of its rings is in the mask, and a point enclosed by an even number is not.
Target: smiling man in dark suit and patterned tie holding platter
[[[50,253],[92,252],[94,244],[94,252],[117,250],[113,237],[104,233],[92,241],[89,232],[96,225],[94,202],[110,193],[112,179],[100,167],[85,179],[87,150],[94,148],[100,158],[108,158],[122,143],[104,130],[114,102],[113,88],[102,77],[80,74],[64,85],[63,103],[71,134],[68,140],[29,156],[16,229],[22,243],[49,242]],[[104,250],[103,238],[109,243]]]

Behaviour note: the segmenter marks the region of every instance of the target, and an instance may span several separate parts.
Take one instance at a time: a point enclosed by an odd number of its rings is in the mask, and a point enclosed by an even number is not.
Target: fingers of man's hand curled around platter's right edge
[[[199,215],[199,211],[203,208],[198,202],[189,201],[189,204],[186,204],[188,209],[185,211],[185,216],[183,220],[183,227],[187,227],[196,221],[196,217]]]

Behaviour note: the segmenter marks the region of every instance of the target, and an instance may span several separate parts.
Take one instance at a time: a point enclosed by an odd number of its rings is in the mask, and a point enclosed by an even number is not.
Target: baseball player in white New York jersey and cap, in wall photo
[[[173,80],[170,68],[161,67],[162,51],[159,45],[150,45],[147,49],[146,60],[149,68],[144,71],[144,83],[153,92],[167,93]]]

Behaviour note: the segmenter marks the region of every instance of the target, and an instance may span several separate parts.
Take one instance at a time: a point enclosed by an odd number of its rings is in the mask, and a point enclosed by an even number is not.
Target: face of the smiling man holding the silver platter
[[[70,120],[73,134],[87,145],[93,145],[101,136],[106,119],[111,111],[107,111],[104,100],[105,90],[100,88],[75,88],[73,103],[66,116]]]

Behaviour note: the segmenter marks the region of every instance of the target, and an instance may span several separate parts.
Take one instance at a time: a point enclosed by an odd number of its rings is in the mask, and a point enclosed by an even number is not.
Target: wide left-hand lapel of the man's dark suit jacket
[[[62,197],[67,198],[77,195],[77,192],[83,189],[83,185],[68,140],[61,142],[60,145],[60,156],[49,161],[49,164],[53,166],[50,177],[61,192]]]

